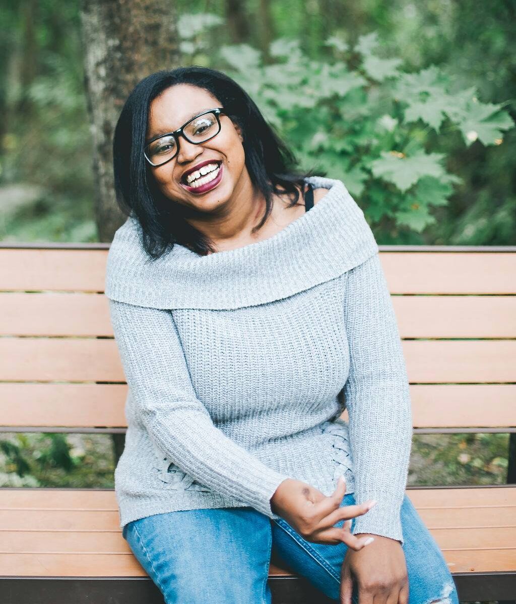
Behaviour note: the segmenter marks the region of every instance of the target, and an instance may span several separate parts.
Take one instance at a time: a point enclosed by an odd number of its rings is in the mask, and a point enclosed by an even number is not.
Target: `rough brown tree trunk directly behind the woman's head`
[[[82,0],[80,16],[93,132],[95,217],[99,240],[111,242],[125,220],[114,196],[114,127],[139,80],[177,66],[177,19],[170,0]]]

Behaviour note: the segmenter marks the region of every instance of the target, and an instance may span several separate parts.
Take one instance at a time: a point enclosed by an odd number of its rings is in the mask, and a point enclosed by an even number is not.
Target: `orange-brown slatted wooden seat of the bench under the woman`
[[[408,489],[452,572],[516,571],[516,487]],[[87,495],[87,496],[86,496]],[[270,576],[288,570],[272,565]],[[0,575],[145,576],[113,490],[0,489]]]

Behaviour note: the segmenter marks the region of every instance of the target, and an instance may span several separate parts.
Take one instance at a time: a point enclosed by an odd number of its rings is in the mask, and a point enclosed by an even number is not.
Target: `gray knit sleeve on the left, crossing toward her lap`
[[[201,484],[273,518],[270,498],[289,477],[214,425],[195,394],[171,312],[114,300],[109,312],[126,381],[152,442]]]

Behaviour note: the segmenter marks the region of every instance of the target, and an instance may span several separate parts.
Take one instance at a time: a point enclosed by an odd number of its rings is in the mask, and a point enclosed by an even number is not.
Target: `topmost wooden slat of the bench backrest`
[[[103,249],[0,249],[4,291],[104,288]],[[393,294],[515,294],[516,253],[380,251]]]

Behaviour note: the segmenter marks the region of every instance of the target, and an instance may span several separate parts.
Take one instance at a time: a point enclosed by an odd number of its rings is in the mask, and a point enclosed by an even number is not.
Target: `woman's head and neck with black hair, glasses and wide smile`
[[[301,215],[313,173],[296,172],[295,156],[236,82],[197,66],[136,86],[113,152],[119,205],[139,219],[154,259],[175,243],[207,255],[264,239]]]

